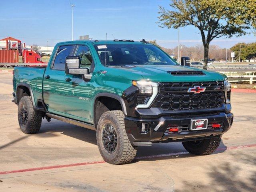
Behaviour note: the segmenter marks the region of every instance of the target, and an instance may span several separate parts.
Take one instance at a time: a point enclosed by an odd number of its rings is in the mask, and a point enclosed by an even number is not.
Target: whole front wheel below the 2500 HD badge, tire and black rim
[[[122,111],[102,114],[97,126],[97,143],[104,161],[114,165],[131,162],[137,152],[126,134]]]

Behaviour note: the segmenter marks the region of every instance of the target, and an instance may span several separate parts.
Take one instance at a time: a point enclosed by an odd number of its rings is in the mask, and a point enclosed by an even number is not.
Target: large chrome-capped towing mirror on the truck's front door
[[[89,74],[88,68],[80,68],[81,60],[79,56],[67,56],[65,63],[66,74]]]

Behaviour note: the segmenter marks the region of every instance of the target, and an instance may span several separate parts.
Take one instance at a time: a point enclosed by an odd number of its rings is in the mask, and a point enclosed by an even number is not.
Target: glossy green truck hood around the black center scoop
[[[220,81],[226,78],[226,75],[218,72],[178,65],[123,66],[119,69],[126,70],[128,73],[140,74],[145,80],[150,80],[153,82]],[[204,72],[204,75],[177,76],[171,75],[170,71],[202,71]]]

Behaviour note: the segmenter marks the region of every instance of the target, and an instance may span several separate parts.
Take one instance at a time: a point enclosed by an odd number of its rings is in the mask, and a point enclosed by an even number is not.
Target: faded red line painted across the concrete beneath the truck
[[[256,144],[234,146],[234,147],[227,147],[227,148],[218,148],[217,150],[218,151],[223,151],[223,150],[240,149],[240,148],[248,148],[248,147],[256,147]],[[159,154],[159,155],[137,157],[135,159],[157,158],[157,157],[166,157],[166,156],[174,156],[174,155],[182,155],[182,154],[189,154],[189,153],[188,152],[168,153],[168,154]],[[0,172],[0,175],[9,174],[9,173],[19,173],[19,172],[28,172],[28,171],[36,171],[36,170],[63,168],[63,167],[73,167],[73,166],[81,166],[81,165],[100,164],[100,163],[105,163],[105,161],[94,161],[94,162],[84,162],[84,163],[75,163],[75,164],[66,164],[66,165],[56,165],[56,166],[20,169],[20,170],[13,170],[13,171],[2,171],[2,172]]]

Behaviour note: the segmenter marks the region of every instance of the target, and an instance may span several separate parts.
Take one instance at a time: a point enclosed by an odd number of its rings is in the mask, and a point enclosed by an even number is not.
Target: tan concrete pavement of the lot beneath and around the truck
[[[232,93],[234,124],[214,154],[154,144],[120,166],[102,162],[92,130],[43,120],[23,134],[11,100],[12,74],[0,73],[0,191],[256,191],[256,94]]]

